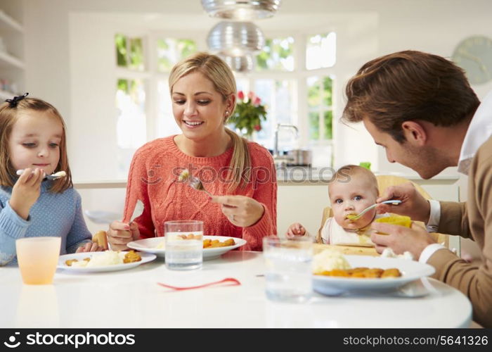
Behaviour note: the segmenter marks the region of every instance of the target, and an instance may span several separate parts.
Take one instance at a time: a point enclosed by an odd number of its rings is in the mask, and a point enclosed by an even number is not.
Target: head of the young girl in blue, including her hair
[[[12,100],[0,105],[0,184],[13,187],[20,169],[41,168],[46,174],[63,170],[67,177],[53,181],[51,191],[65,191],[72,177],[63,118],[41,99]]]

